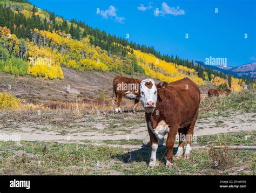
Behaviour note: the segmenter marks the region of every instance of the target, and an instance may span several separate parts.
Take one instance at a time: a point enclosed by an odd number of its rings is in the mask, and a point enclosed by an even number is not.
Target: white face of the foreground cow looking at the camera
[[[157,104],[157,87],[152,79],[142,80],[140,84],[140,102],[147,113],[153,112]]]

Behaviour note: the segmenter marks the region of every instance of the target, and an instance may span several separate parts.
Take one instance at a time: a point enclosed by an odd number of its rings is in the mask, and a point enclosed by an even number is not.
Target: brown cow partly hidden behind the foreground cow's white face
[[[113,79],[113,103],[115,106],[115,111],[122,112],[120,108],[120,102],[123,96],[127,99],[134,100],[133,111],[139,104],[139,79],[127,78],[117,75]],[[116,96],[114,97],[114,94]]]

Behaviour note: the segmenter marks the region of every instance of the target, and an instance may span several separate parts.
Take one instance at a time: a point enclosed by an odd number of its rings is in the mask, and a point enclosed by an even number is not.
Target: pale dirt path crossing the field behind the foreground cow
[[[233,115],[228,118],[215,117],[198,119],[194,134],[201,135],[214,135],[227,132],[240,132],[250,131],[256,129],[255,113],[244,113]],[[86,121],[85,121],[86,123]],[[32,125],[31,125],[32,124]],[[104,133],[104,123],[97,123],[94,125],[95,129],[90,132],[81,130],[70,130],[70,133],[60,134],[51,125],[33,125],[31,122],[24,122],[17,129],[12,128],[11,132],[8,128],[1,128],[0,134],[20,135],[21,140],[25,141],[59,141],[59,142],[81,142],[82,140],[143,140],[147,136],[146,124],[142,123],[140,126],[133,126],[131,132],[122,134],[120,132]],[[126,127],[126,126],[123,126]],[[40,128],[51,128],[40,129]],[[97,130],[98,129],[98,130]],[[119,130],[122,128],[119,128]],[[124,128],[125,129],[125,128]],[[127,128],[126,128],[127,129]],[[133,146],[131,146],[133,147]],[[134,146],[136,147],[136,146]],[[128,148],[128,147],[127,147]]]

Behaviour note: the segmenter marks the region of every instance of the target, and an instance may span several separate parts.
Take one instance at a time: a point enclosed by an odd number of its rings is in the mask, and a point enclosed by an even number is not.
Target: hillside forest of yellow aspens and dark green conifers
[[[252,83],[162,55],[153,46],[128,42],[23,0],[0,1],[0,41],[0,71],[15,75],[63,79],[65,66],[80,72],[140,73],[169,82],[190,77],[198,85],[205,80],[237,91]]]

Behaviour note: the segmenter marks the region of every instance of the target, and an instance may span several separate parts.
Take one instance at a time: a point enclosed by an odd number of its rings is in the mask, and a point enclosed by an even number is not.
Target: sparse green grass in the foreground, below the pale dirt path
[[[198,137],[197,143],[210,147],[225,144],[255,144],[255,131]],[[247,140],[244,136],[248,135]],[[250,136],[251,135],[251,136]],[[141,140],[109,141],[111,144],[141,144]],[[166,148],[157,151],[156,168],[147,169],[151,149],[129,150],[119,147],[57,142],[0,142],[0,175],[255,175],[256,153],[251,150],[228,150],[232,164],[214,168],[219,153],[193,149],[190,160],[174,158],[173,168],[165,168]],[[174,149],[174,153],[177,149]]]

